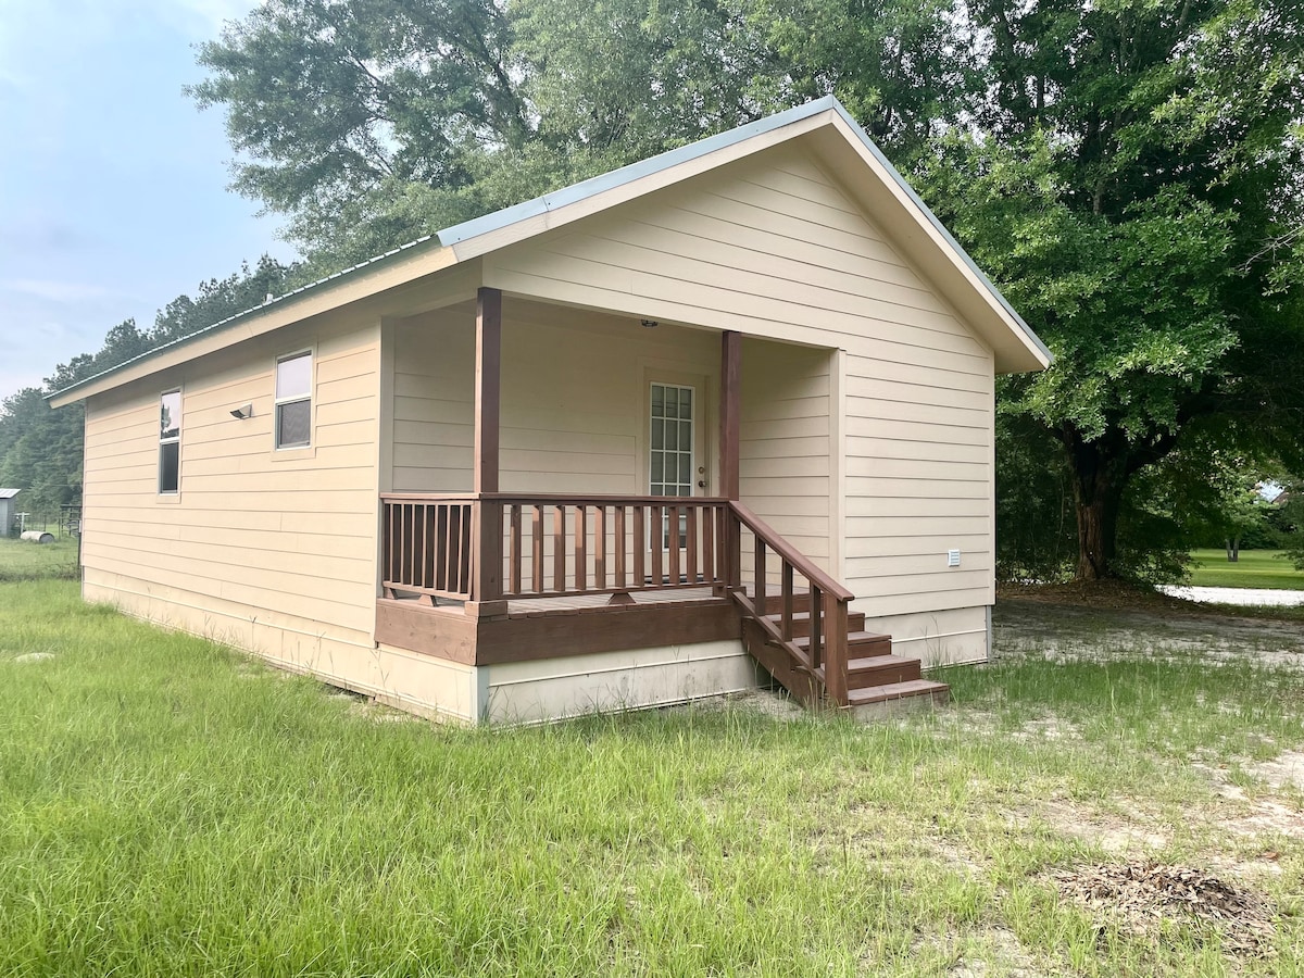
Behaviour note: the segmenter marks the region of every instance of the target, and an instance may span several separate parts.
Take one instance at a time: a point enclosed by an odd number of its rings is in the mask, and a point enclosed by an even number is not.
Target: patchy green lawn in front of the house
[[[0,974],[1301,974],[1304,853],[1227,828],[1267,790],[1252,763],[1304,745],[1297,672],[1127,653],[947,679],[952,707],[867,726],[439,728],[70,582],[3,584]],[[1248,876],[1283,909],[1271,953],[1058,898],[1048,871],[1110,858],[1090,827],[1120,812],[1167,861],[1279,850]]]

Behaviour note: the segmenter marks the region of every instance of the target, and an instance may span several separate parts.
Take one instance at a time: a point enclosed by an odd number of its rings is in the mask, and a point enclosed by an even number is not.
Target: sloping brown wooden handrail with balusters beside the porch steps
[[[803,672],[812,679],[823,678],[824,691],[837,705],[848,705],[848,648],[846,623],[848,608],[855,595],[841,582],[816,567],[801,550],[785,540],[765,520],[743,506],[737,499],[729,501],[729,512],[741,526],[747,527],[756,539],[755,596],[748,600],[739,591],[732,591],[735,602],[743,606],[751,618],[794,657]],[[742,540],[738,528],[730,533],[733,567],[730,584],[739,584],[739,563]],[[780,627],[776,629],[765,617],[765,549],[773,550],[782,559],[784,610]],[[810,653],[803,656],[793,644],[793,571],[799,572],[810,583]],[[823,674],[819,669],[823,666]]]

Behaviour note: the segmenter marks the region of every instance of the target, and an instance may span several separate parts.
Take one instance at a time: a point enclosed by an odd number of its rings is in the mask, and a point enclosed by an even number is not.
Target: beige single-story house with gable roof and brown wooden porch
[[[83,595],[428,715],[939,698],[1050,353],[822,99],[60,391]],[[758,668],[758,664],[762,668]]]

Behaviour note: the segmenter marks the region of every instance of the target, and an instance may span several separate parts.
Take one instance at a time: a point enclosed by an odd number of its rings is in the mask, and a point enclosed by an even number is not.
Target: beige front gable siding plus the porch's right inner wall
[[[918,622],[991,602],[991,351],[900,257],[891,230],[799,147],[484,261],[485,283],[506,291],[742,331],[743,499],[763,499],[762,515],[827,559],[831,480],[840,479],[841,570],[871,617]],[[760,338],[825,349],[775,347],[769,360]],[[828,364],[831,348],[845,351],[837,385],[810,395],[767,390],[814,381],[808,365],[820,356]],[[819,404],[835,391],[841,472],[829,464],[837,446]],[[958,569],[945,566],[952,548]]]

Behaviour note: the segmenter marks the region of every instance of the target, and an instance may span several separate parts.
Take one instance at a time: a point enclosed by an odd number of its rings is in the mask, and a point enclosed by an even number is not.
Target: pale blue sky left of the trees
[[[0,0],[0,399],[270,253],[194,46],[254,0]]]

